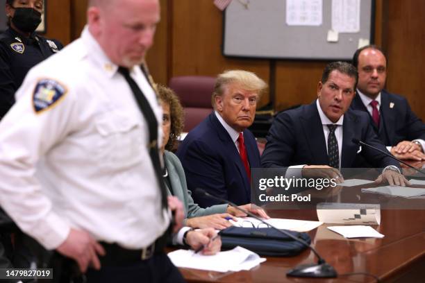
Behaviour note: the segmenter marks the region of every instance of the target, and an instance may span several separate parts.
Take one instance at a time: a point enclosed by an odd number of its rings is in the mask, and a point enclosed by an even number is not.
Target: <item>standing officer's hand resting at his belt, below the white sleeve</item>
[[[67,239],[56,249],[65,257],[74,259],[82,273],[88,266],[99,270],[101,264],[97,255],[105,255],[101,244],[97,243],[88,232],[71,229]]]

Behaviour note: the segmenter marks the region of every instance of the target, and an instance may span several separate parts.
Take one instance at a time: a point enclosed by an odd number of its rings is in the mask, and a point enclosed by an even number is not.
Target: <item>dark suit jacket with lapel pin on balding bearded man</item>
[[[390,108],[390,105],[392,105],[392,108]],[[425,139],[425,124],[410,110],[410,105],[403,96],[390,94],[385,89],[381,91],[379,128],[376,127],[360,95],[356,95],[350,108],[368,114],[370,125],[386,146],[397,146],[400,141]]]

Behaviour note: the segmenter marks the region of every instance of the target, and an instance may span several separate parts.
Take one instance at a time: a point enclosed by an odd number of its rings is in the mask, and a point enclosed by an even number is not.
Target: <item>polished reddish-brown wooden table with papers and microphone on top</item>
[[[273,218],[317,221],[315,209],[267,210]],[[372,226],[383,239],[345,239],[324,224],[308,232],[312,246],[338,275],[372,273],[383,282],[425,282],[425,209],[382,209],[381,225]],[[373,277],[351,275],[334,279],[286,277],[299,264],[317,262],[310,249],[297,257],[267,257],[250,271],[217,273],[180,268],[188,282],[376,282]]]

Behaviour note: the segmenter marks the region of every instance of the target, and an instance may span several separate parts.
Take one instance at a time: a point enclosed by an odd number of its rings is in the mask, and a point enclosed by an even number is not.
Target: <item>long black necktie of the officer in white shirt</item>
[[[134,94],[135,100],[138,101],[140,111],[146,119],[149,126],[149,155],[151,156],[151,161],[153,164],[153,169],[155,171],[156,179],[158,180],[160,189],[161,189],[161,198],[163,208],[167,208],[167,189],[163,180],[162,169],[159,159],[158,151],[158,121],[156,120],[155,114],[147,101],[147,98],[144,96],[142,89],[138,87],[138,84],[131,78],[130,72],[124,67],[119,67],[118,71],[124,76],[128,85],[130,85],[131,91]],[[161,214],[162,215],[162,214]]]

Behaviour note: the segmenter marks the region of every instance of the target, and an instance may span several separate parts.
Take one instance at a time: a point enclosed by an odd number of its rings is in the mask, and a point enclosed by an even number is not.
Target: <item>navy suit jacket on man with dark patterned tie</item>
[[[353,138],[387,151],[372,130],[367,114],[348,110],[344,114],[342,127],[342,168],[359,167],[363,164],[363,158],[375,168],[384,168],[388,165],[399,167],[397,161],[374,149],[363,146],[362,151],[357,153],[359,146],[353,143]],[[261,165],[263,167],[327,165],[328,153],[325,142],[316,101],[282,112],[274,119],[267,135]]]

